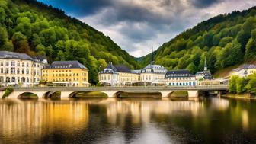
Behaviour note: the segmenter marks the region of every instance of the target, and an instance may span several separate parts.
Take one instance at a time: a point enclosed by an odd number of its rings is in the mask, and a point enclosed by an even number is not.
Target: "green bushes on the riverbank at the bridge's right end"
[[[256,74],[246,78],[233,76],[229,80],[229,94],[236,97],[256,98]]]

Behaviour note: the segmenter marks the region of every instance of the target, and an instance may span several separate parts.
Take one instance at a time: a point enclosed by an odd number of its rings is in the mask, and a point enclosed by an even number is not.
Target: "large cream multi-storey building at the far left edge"
[[[0,85],[29,87],[40,83],[41,69],[46,66],[44,56],[0,51]]]

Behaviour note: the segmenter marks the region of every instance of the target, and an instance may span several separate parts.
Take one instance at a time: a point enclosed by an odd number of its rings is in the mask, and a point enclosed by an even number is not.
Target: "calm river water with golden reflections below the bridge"
[[[0,143],[256,143],[256,102],[1,99]]]

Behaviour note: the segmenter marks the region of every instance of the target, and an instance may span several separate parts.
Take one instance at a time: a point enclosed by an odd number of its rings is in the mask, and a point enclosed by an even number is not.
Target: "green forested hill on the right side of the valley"
[[[168,69],[212,72],[256,60],[256,7],[221,14],[184,31],[155,52],[155,62]],[[139,59],[146,64],[150,57]]]

